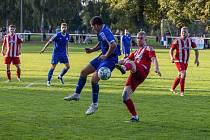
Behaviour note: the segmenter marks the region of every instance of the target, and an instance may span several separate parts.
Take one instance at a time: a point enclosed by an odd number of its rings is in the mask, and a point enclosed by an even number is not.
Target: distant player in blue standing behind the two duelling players
[[[124,58],[128,57],[131,52],[131,34],[128,30],[125,30],[125,33],[122,37],[122,50],[124,54]]]

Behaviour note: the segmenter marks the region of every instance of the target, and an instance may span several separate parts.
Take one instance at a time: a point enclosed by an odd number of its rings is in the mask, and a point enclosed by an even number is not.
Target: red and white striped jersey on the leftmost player
[[[22,42],[22,39],[17,34],[5,35],[3,42],[3,47],[6,48],[5,57],[19,57],[20,44]]]

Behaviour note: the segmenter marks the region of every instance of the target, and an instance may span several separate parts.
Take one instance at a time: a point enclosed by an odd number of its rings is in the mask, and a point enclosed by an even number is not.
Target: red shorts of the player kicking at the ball
[[[130,73],[125,86],[131,86],[132,91],[135,91],[138,85],[140,85],[149,74],[149,70],[146,70],[143,66],[138,67],[135,73]]]

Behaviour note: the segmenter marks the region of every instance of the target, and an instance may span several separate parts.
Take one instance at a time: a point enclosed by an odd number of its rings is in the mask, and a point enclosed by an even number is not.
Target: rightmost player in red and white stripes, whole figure
[[[180,96],[184,96],[185,77],[191,47],[196,48],[196,44],[189,38],[188,28],[182,27],[181,36],[171,44],[169,51],[171,62],[176,64],[178,70],[178,76],[175,78],[170,91],[176,94],[175,88],[180,84]],[[176,51],[175,55],[174,51]],[[199,52],[195,49],[195,64],[197,66],[199,66],[198,56]]]

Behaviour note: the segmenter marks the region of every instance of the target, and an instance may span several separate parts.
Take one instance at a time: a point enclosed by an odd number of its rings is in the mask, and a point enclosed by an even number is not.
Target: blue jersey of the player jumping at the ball
[[[114,35],[112,34],[111,30],[105,25],[103,25],[101,31],[97,34],[97,37],[103,55],[107,53],[107,51],[109,50],[109,45],[111,43],[114,42],[116,44]],[[117,49],[115,49],[115,51],[112,52],[112,54],[107,59],[118,61]]]

